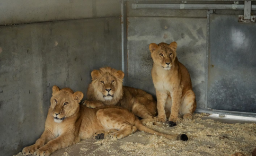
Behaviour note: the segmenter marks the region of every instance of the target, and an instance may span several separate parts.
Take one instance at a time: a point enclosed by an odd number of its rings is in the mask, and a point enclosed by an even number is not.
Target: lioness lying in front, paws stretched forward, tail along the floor
[[[23,155],[49,156],[56,150],[71,146],[80,139],[122,139],[133,131],[143,130],[172,140],[187,140],[185,134],[168,135],[144,126],[134,114],[117,106],[90,109],[79,105],[82,92],[53,86],[51,105],[45,121],[45,129],[35,144],[25,147]]]

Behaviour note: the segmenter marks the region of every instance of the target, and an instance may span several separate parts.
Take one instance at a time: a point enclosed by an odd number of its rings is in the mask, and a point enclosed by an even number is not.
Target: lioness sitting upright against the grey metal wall
[[[154,61],[151,70],[157,95],[157,121],[179,122],[178,113],[183,119],[191,120],[196,108],[190,75],[185,66],[176,57],[177,43],[151,43],[151,57]]]

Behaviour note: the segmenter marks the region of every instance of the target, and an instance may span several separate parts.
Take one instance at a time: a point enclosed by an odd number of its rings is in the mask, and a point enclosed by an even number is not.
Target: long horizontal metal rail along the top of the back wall
[[[138,4],[132,3],[132,9],[222,9],[243,10],[243,4]],[[256,10],[256,5],[252,5]]]

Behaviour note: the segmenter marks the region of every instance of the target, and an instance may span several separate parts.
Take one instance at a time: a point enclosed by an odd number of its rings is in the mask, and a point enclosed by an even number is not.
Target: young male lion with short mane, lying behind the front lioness
[[[144,124],[154,121],[157,114],[157,102],[152,95],[141,89],[123,86],[124,72],[110,67],[91,72],[92,82],[88,86],[87,99],[82,104],[89,108],[102,105],[124,107],[142,118]]]

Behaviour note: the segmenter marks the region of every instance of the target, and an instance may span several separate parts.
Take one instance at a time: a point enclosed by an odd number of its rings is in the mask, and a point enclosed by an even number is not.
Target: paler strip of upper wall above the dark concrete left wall
[[[0,0],[0,25],[121,15],[120,0]]]

